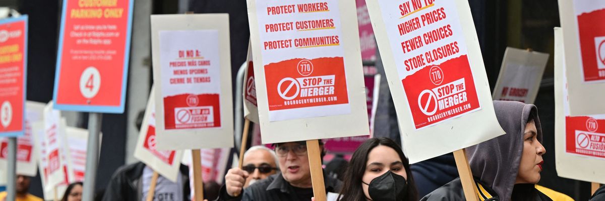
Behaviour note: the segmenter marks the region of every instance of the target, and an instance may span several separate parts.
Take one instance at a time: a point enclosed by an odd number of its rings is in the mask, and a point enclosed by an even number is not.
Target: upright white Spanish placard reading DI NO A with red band
[[[158,150],[233,146],[229,16],[151,16]]]

